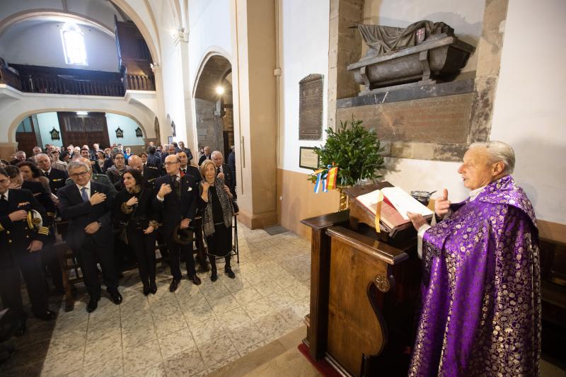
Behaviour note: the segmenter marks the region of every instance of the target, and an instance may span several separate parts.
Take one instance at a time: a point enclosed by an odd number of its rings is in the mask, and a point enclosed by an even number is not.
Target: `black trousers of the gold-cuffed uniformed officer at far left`
[[[49,298],[45,288],[41,254],[28,253],[27,250],[18,265],[0,269],[0,297],[4,308],[12,309],[21,318],[26,317],[20,291],[20,271],[28,289],[33,313],[44,314],[49,309]]]

